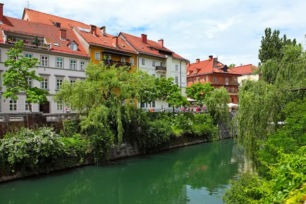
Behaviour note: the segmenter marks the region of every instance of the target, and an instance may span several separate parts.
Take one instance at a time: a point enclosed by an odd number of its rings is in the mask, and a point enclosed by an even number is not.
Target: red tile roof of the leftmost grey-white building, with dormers
[[[66,31],[66,41],[65,41],[65,40],[60,40],[61,28],[54,27],[53,25],[46,25],[42,23],[31,22],[7,16],[3,17],[3,22],[4,24],[0,25],[0,29],[5,32],[7,31],[11,33],[18,33],[18,34],[31,35],[31,36],[37,35],[40,37],[44,37],[46,40],[49,40],[49,42],[52,42],[51,50],[53,51],[88,56],[85,48],[83,47],[78,37],[74,34],[72,30]],[[74,41],[79,45],[77,51],[71,50],[67,46],[67,43],[72,41]],[[4,43],[3,38],[0,38],[0,42]],[[58,43],[59,47],[55,46],[54,42]]]

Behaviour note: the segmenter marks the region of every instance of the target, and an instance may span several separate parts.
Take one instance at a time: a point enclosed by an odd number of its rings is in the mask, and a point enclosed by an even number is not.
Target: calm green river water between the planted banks
[[[0,184],[0,203],[222,203],[247,165],[232,139]]]

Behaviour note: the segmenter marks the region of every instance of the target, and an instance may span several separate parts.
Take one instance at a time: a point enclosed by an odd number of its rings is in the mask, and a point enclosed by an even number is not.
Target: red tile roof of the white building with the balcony
[[[134,35],[126,34],[126,33],[120,33],[119,36],[124,37],[124,39],[129,42],[139,53],[142,54],[148,54],[148,55],[155,55],[158,57],[166,57],[166,55],[161,54],[158,52],[158,50],[163,50],[165,52],[172,53],[172,57],[176,59],[181,59],[188,61],[187,59],[177,55],[176,53],[172,52],[170,49],[166,47],[162,47],[158,42],[147,40],[147,43],[143,43],[141,41],[141,37],[137,37]]]

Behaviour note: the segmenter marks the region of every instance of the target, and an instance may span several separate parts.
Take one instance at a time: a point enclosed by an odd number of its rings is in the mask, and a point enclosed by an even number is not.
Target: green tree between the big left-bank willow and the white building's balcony
[[[151,103],[156,100],[157,87],[154,78],[147,72],[139,70],[136,75],[136,81],[132,85],[134,89],[131,90],[134,93],[132,97],[140,102],[140,108],[142,108],[143,103]]]

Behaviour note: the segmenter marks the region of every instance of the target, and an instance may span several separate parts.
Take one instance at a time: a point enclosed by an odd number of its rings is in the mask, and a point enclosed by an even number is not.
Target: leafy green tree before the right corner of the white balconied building
[[[187,99],[182,96],[181,89],[178,84],[173,83],[173,78],[156,78],[155,84],[157,86],[157,98],[166,100],[168,104],[173,108],[179,108],[187,104]]]

